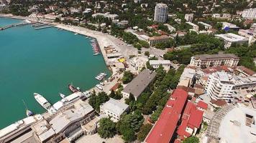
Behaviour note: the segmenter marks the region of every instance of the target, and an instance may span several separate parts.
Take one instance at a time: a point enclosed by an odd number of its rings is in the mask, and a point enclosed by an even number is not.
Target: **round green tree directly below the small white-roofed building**
[[[116,124],[109,118],[100,119],[98,134],[104,139],[114,137],[116,134]]]

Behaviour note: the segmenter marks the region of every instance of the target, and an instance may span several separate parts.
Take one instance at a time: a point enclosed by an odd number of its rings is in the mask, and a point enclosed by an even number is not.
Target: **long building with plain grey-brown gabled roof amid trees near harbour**
[[[137,99],[140,97],[140,94],[144,92],[147,86],[155,79],[155,76],[155,71],[144,69],[132,80],[132,82],[124,87],[124,90],[122,91],[123,97],[129,98],[129,95],[133,94],[134,98]]]

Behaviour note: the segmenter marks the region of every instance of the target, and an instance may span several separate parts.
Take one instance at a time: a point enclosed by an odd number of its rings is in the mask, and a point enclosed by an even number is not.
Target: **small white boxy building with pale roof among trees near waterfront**
[[[107,117],[111,117],[114,122],[118,122],[121,118],[121,115],[124,112],[127,112],[128,109],[129,105],[112,98],[100,106],[101,114],[105,114]]]

